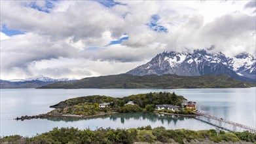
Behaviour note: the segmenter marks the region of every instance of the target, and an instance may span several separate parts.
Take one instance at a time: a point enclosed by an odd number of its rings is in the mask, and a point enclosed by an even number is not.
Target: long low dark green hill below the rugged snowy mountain
[[[227,75],[187,77],[128,74],[88,77],[75,82],[55,82],[40,88],[247,88],[255,86]]]

